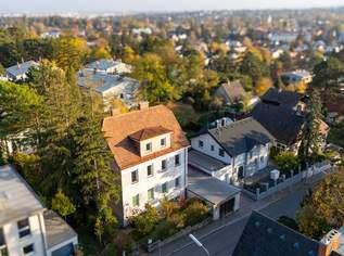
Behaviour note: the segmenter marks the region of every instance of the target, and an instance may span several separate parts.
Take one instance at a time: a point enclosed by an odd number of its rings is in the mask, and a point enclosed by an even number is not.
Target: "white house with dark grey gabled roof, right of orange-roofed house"
[[[273,142],[275,138],[249,117],[191,139],[189,165],[235,184],[267,167]]]

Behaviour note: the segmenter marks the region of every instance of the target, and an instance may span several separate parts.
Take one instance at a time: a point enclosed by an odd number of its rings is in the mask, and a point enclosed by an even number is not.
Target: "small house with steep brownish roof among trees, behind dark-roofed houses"
[[[246,97],[246,92],[241,82],[235,80],[220,85],[214,95],[220,98],[224,104],[232,105],[242,101]]]

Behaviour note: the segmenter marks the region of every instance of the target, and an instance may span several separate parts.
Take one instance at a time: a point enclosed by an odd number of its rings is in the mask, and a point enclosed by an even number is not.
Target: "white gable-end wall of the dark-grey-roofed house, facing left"
[[[203,141],[203,148],[199,146],[200,140]],[[214,145],[214,151],[212,151],[212,145]],[[219,159],[226,164],[232,163],[232,158],[226,151],[225,151],[225,156],[220,156],[218,154],[218,150],[222,148],[208,133],[204,133],[191,139],[191,146],[192,149],[200,151],[206,155],[209,155],[216,159]]]

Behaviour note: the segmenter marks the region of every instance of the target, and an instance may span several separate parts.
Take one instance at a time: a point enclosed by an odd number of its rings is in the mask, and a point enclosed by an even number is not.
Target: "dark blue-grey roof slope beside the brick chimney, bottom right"
[[[232,256],[317,256],[319,243],[253,212]]]

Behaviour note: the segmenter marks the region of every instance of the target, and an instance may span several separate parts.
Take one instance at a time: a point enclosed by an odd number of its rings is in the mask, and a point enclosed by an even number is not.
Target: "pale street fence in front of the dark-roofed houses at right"
[[[317,163],[305,170],[294,171],[291,170],[289,176],[282,175],[279,180],[272,181],[272,183],[262,183],[258,188],[255,188],[255,191],[251,188],[245,188],[242,190],[249,197],[253,200],[265,199],[278,191],[286,189],[295,183],[306,180],[317,174],[329,170],[331,168],[331,163],[328,161]]]

